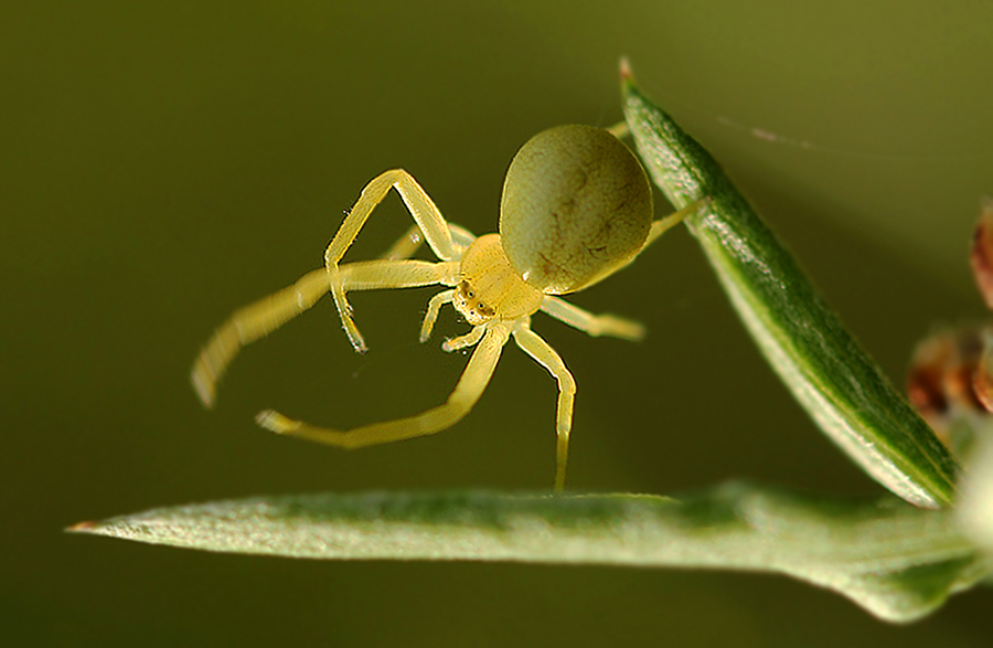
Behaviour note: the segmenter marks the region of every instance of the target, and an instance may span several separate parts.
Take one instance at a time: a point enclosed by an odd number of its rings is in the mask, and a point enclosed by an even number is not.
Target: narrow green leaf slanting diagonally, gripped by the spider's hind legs
[[[920,507],[951,503],[958,466],[845,330],[720,166],[636,87],[624,113],[645,167],[685,220],[751,337],[800,404],[883,486]]]

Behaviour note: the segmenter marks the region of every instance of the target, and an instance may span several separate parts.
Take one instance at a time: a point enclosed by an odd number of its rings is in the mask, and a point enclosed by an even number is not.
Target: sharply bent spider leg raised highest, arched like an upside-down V
[[[349,215],[345,216],[334,238],[328,245],[324,252],[324,267],[328,270],[328,280],[331,285],[331,296],[334,298],[334,306],[338,308],[338,315],[341,317],[341,323],[344,327],[352,347],[356,351],[366,350],[365,342],[352,320],[352,309],[345,298],[345,290],[338,277],[339,263],[345,252],[355,241],[355,236],[362,230],[369,215],[380,202],[389,192],[389,189],[396,189],[407,211],[414,217],[417,226],[420,229],[428,245],[441,261],[455,261],[457,257],[456,246],[451,240],[451,231],[448,223],[441,216],[441,212],[431,201],[430,196],[417,183],[414,178],[403,169],[391,169],[380,176],[373,178],[362,193],[359,200],[352,206]],[[419,242],[405,243],[403,240],[394,246],[396,254],[413,254]],[[387,254],[394,253],[394,249]]]

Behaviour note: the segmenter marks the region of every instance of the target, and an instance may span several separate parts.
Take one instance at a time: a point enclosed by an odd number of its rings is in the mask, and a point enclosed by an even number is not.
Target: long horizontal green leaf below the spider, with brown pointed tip
[[[949,511],[729,484],[653,496],[488,492],[259,497],[156,509],[72,531],[309,559],[733,569],[793,576],[909,622],[990,564]]]

